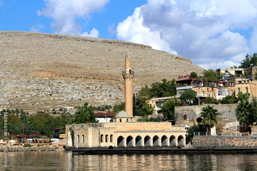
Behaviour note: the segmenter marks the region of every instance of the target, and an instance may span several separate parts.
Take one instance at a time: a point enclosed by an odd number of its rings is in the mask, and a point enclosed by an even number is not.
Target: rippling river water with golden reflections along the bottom
[[[70,151],[0,152],[0,170],[257,170],[257,154],[73,154]]]

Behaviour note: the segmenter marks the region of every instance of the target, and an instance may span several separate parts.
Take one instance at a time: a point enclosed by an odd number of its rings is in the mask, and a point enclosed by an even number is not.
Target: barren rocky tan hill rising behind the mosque
[[[127,47],[135,71],[133,91],[162,78],[203,68],[189,58],[118,40],[0,31],[0,107],[25,111],[73,108],[124,99]]]

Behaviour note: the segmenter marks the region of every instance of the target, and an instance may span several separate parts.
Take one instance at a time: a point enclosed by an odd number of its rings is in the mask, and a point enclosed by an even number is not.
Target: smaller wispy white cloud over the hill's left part
[[[90,15],[95,11],[102,11],[110,0],[45,0],[45,8],[38,11],[39,16],[53,18],[51,27],[56,34],[67,35],[89,35],[98,36],[98,31],[94,28],[87,32],[82,32],[82,26],[76,19],[83,18],[85,23],[90,20]],[[92,33],[91,33],[92,32]]]

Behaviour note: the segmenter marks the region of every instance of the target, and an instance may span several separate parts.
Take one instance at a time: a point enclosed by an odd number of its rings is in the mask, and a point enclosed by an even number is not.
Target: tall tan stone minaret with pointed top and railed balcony
[[[131,117],[133,117],[132,82],[134,75],[134,70],[131,67],[131,57],[127,49],[127,54],[125,57],[125,71],[122,72],[122,76],[125,81],[125,111]]]

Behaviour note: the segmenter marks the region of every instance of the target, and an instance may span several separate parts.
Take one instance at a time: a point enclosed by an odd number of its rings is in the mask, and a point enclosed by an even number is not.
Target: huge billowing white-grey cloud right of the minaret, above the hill
[[[175,52],[206,69],[239,66],[247,53],[256,52],[256,16],[254,0],[148,0],[118,24],[116,35]],[[251,27],[249,42],[236,32]]]

